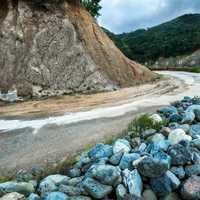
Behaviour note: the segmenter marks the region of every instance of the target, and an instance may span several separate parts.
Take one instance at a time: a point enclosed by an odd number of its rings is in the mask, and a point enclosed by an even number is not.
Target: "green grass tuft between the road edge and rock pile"
[[[130,122],[128,125],[128,132],[132,134],[132,137],[137,137],[147,129],[159,131],[164,124],[165,122],[155,123],[149,114],[143,114]]]

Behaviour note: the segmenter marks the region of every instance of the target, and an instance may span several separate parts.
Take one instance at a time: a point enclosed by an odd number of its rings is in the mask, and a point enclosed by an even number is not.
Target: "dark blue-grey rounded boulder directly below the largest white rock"
[[[181,144],[171,146],[168,149],[168,154],[171,157],[172,165],[190,164],[192,159],[190,150]]]

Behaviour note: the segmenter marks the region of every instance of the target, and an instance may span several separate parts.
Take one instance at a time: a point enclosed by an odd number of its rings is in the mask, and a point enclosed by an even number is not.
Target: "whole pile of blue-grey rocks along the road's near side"
[[[84,152],[68,176],[40,182],[21,171],[0,184],[2,200],[200,199],[200,98],[185,97],[151,116],[165,126]]]

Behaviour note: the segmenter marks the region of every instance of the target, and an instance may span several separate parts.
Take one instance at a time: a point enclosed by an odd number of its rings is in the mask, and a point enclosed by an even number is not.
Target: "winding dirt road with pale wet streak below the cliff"
[[[137,114],[200,95],[200,74],[159,73],[169,78],[116,92],[0,107],[0,174],[56,162],[120,134]]]

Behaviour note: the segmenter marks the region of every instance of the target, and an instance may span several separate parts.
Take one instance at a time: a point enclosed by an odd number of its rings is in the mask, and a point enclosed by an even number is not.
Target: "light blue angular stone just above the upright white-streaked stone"
[[[134,160],[137,160],[140,157],[140,154],[138,153],[130,153],[130,154],[124,154],[122,156],[122,159],[119,163],[120,169],[132,169],[132,163]]]

